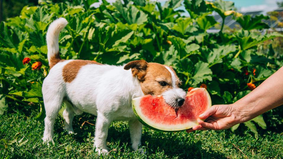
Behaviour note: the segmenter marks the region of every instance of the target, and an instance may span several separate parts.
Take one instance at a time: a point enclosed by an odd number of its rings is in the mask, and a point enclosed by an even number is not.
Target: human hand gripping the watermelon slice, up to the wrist
[[[225,130],[240,123],[240,110],[236,105],[214,105],[199,115],[199,125],[186,130],[188,133],[194,130]]]

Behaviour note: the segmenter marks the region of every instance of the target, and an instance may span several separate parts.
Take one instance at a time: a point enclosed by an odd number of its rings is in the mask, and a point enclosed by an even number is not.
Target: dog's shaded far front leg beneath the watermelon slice
[[[138,150],[138,146],[141,145],[141,130],[142,124],[138,119],[132,119],[129,121],[130,135],[133,150]]]

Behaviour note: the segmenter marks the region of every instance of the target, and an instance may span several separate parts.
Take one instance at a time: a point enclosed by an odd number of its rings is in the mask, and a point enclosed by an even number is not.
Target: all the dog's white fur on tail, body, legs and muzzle
[[[67,23],[66,19],[59,18],[49,26],[46,36],[48,60],[59,52],[58,36]],[[64,128],[69,133],[74,133],[74,114],[87,112],[97,116],[94,147],[98,153],[108,153],[106,138],[108,127],[114,120],[129,121],[131,146],[137,150],[141,145],[142,124],[132,111],[131,100],[144,96],[139,80],[133,77],[131,70],[125,70],[124,66],[87,64],[80,68],[73,81],[66,83],[62,70],[71,61],[65,60],[54,65],[43,81],[42,93],[46,111],[43,141],[52,141],[53,125],[64,102]],[[171,73],[173,83],[178,77],[170,68],[167,69]],[[175,86],[175,83],[173,84]],[[170,103],[176,96],[184,98],[186,94],[182,89],[173,87],[162,95],[166,102]],[[69,99],[72,104],[65,99]]]

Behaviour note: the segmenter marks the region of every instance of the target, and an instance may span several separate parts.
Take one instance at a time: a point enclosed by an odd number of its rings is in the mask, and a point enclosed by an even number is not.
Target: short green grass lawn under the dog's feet
[[[165,133],[144,127],[142,145],[146,154],[130,148],[130,134],[126,122],[113,122],[109,128],[107,146],[110,153],[98,156],[93,146],[95,117],[84,113],[75,116],[76,135],[63,130],[63,119],[58,116],[54,127],[55,143],[42,143],[43,121],[35,120],[37,111],[9,110],[0,116],[0,158],[5,153],[11,158],[282,158],[282,131],[260,130],[259,137],[245,127],[235,132],[198,131]],[[3,147],[4,145],[4,147]],[[242,152],[241,152],[242,151]]]

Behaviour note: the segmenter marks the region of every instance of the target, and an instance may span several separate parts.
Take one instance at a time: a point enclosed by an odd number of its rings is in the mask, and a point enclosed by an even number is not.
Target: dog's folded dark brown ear
[[[147,73],[147,65],[148,63],[145,60],[136,60],[136,61],[131,61],[127,63],[124,66],[124,69],[129,70],[131,68],[132,74],[134,76],[137,76],[139,81],[143,81],[144,76]]]

